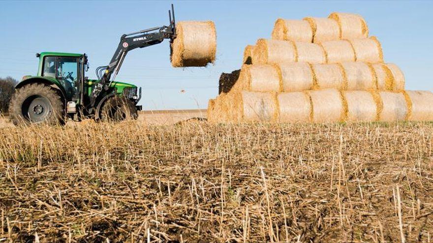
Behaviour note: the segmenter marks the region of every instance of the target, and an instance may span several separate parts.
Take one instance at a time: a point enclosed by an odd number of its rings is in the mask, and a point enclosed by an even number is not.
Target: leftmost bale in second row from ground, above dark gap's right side
[[[233,90],[280,91],[281,79],[278,68],[269,64],[243,65]]]

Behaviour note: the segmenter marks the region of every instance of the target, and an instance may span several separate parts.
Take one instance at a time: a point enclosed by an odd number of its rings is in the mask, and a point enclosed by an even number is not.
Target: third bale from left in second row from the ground
[[[344,73],[339,64],[312,64],[315,89],[345,89]]]

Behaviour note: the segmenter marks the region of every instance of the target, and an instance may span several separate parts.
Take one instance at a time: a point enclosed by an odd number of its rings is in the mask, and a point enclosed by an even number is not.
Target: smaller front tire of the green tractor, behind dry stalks
[[[99,117],[102,122],[121,122],[137,119],[138,113],[132,101],[113,96],[102,105]]]

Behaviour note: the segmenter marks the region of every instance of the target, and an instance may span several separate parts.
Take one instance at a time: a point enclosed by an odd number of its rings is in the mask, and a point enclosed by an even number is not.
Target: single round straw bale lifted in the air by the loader
[[[173,67],[204,67],[214,63],[216,30],[212,21],[176,23],[176,39],[171,44]]]

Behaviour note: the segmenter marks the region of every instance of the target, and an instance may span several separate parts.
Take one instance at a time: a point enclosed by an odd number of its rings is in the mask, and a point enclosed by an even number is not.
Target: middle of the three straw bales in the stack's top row
[[[313,17],[307,17],[304,20],[308,21],[311,26],[314,43],[340,39],[340,27],[336,20]]]

